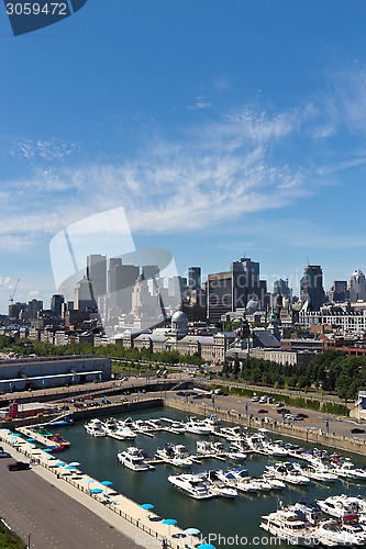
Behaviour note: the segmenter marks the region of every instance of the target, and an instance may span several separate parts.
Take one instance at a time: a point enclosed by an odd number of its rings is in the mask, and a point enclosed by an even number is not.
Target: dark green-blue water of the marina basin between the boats
[[[121,415],[123,416],[123,415]],[[178,411],[154,408],[131,414],[134,418],[170,417],[185,421],[186,415]],[[101,417],[101,419],[103,419]],[[113,488],[131,497],[140,504],[152,503],[155,505],[154,512],[164,518],[175,518],[181,528],[199,528],[204,536],[221,534],[221,536],[233,537],[235,535],[248,538],[248,545],[262,547],[265,541],[253,544],[253,537],[266,538],[264,530],[259,528],[262,515],[276,511],[278,501],[285,504],[296,503],[303,497],[325,498],[330,495],[346,493],[350,495],[362,495],[366,497],[366,482],[362,484],[336,482],[330,485],[311,483],[308,488],[292,486],[284,491],[270,492],[264,495],[240,495],[235,500],[214,498],[208,501],[196,501],[187,495],[177,492],[168,482],[169,474],[178,474],[184,469],[174,468],[166,464],[156,466],[155,471],[134,472],[124,468],[117,461],[117,453],[129,446],[137,446],[147,451],[153,457],[158,447],[166,442],[184,444],[190,453],[196,455],[196,441],[198,435],[185,434],[173,435],[170,433],[157,433],[154,438],[137,435],[135,441],[120,441],[109,437],[96,438],[88,435],[84,428],[87,421],[78,422],[70,427],[54,427],[66,439],[70,440],[71,447],[58,455],[66,461],[79,461],[80,469],[100,481],[109,480],[113,482]],[[226,444],[226,442],[224,442]],[[302,441],[299,442],[304,448],[311,448]],[[343,452],[344,453],[344,452]],[[353,461],[365,467],[366,457],[351,456]],[[265,466],[274,463],[277,459],[268,457],[253,456],[246,459],[246,467],[251,475],[259,475],[264,472]],[[237,463],[237,462],[236,462]],[[245,463],[245,462],[244,462]],[[204,460],[201,466],[193,466],[192,472],[208,469],[226,469],[235,467],[234,463]],[[239,467],[239,464],[236,464]],[[209,540],[207,540],[209,541]],[[243,547],[243,542],[231,542],[226,546],[211,538],[211,544],[219,547]],[[278,540],[277,540],[278,541]],[[276,547],[288,547],[286,544],[278,544]]]

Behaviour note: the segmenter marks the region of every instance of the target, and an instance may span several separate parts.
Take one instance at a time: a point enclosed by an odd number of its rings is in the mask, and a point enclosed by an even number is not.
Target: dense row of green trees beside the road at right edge
[[[326,350],[317,355],[309,365],[278,365],[270,360],[249,358],[241,366],[225,363],[225,378],[240,379],[266,386],[336,392],[341,399],[355,399],[366,388],[366,357],[346,356],[342,351]]]

